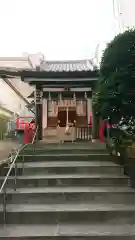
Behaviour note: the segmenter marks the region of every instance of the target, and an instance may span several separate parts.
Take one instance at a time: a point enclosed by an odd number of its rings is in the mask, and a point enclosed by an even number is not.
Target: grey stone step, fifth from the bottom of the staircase
[[[46,161],[17,163],[18,174],[34,175],[47,173],[121,173],[123,169],[112,162],[98,161]],[[12,171],[13,172],[13,171]]]

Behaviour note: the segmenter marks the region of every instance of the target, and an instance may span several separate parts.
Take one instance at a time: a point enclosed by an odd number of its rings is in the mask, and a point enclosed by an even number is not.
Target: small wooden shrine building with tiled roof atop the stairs
[[[91,118],[96,138],[92,91],[98,70],[91,60],[44,61],[36,69],[23,69],[17,74],[35,87],[28,97],[35,101],[39,140],[44,138],[46,128],[65,128],[69,124],[88,128]]]

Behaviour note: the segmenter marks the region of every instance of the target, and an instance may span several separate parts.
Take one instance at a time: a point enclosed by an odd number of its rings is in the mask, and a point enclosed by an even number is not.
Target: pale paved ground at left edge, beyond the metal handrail
[[[12,149],[16,149],[20,146],[20,143],[11,141],[11,140],[4,140],[0,141],[0,163],[3,160],[7,159],[9,154],[12,152]]]

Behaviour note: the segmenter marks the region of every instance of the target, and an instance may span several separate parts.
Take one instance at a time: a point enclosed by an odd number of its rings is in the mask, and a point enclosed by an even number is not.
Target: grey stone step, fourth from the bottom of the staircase
[[[4,177],[0,177],[0,183]],[[14,187],[14,177],[9,177],[8,187]],[[128,185],[129,179],[121,174],[46,174],[17,176],[17,187],[41,186],[112,186]]]

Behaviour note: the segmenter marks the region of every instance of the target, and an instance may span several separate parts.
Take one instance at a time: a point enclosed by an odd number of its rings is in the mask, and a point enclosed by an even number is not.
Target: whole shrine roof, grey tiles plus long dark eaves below
[[[0,76],[12,78],[21,77],[22,81],[29,84],[43,84],[51,87],[74,81],[77,86],[77,79],[87,79],[88,82],[97,80],[99,70],[92,64],[91,60],[70,60],[70,61],[44,61],[40,66],[31,69],[0,68]],[[73,80],[74,79],[74,80]],[[70,81],[69,81],[70,80]],[[82,83],[81,83],[82,84]]]

